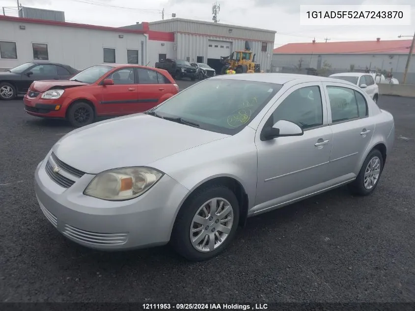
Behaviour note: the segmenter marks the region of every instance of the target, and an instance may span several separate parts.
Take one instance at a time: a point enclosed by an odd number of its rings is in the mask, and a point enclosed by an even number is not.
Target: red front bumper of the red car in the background
[[[48,118],[65,118],[66,107],[70,104],[71,99],[68,97],[42,99],[40,95],[31,98],[26,94],[23,102],[25,103],[25,112],[30,115]]]

